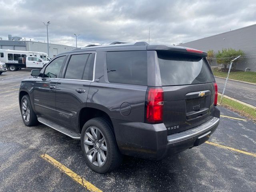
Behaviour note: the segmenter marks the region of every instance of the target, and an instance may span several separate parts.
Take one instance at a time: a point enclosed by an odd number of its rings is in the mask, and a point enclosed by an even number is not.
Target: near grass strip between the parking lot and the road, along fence
[[[220,98],[221,96],[218,96],[218,104],[220,104]],[[221,106],[225,106],[231,110],[234,110],[235,112],[238,112],[242,116],[246,116],[254,121],[256,121],[256,109],[248,107],[246,105],[243,105],[241,103],[238,103],[236,101],[233,101],[228,98],[222,99],[222,104]]]

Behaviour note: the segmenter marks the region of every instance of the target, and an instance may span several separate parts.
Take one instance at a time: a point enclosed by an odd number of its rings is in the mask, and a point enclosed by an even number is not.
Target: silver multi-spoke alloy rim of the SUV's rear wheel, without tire
[[[86,129],[84,148],[88,159],[94,166],[101,167],[105,164],[108,148],[105,136],[97,127],[90,126]]]

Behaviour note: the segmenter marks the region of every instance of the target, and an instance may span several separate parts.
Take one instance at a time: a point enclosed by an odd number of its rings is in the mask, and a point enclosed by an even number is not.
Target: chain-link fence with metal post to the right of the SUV
[[[256,61],[234,61],[211,68],[218,84],[219,104],[256,120]]]

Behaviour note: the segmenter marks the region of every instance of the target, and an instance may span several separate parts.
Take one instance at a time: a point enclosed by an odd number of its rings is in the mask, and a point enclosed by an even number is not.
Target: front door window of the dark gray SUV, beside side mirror
[[[60,77],[60,69],[65,60],[66,56],[61,56],[54,59],[50,64],[46,67],[44,71],[44,77],[46,78],[59,78]]]

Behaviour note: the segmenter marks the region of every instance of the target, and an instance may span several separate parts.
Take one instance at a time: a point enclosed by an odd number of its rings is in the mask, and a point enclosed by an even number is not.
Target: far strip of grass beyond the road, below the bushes
[[[219,71],[218,69],[213,69],[212,72],[214,76],[219,76],[224,78],[226,78],[228,75],[227,72],[222,72],[222,71]],[[256,83],[256,72],[251,72],[251,71],[230,72],[229,79]]]

